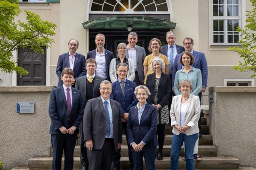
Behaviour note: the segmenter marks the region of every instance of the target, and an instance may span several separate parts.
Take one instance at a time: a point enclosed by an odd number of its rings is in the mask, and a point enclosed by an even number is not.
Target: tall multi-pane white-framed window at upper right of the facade
[[[238,44],[241,0],[212,0],[213,44]]]

